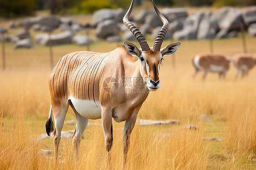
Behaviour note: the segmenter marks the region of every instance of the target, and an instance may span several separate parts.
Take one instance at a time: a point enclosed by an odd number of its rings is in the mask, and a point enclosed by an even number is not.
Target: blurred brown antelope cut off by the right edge
[[[237,70],[236,78],[241,72],[242,77],[248,75],[249,70],[256,65],[256,58],[250,54],[236,54],[233,58],[233,63]]]

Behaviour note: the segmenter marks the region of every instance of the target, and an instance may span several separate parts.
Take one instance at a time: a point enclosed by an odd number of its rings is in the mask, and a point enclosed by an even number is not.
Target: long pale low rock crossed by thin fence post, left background
[[[72,42],[72,34],[70,31],[65,31],[60,34],[52,34],[51,35],[51,42],[48,34],[40,34],[36,35],[35,41],[37,44],[40,45],[61,45],[61,44],[71,44]]]

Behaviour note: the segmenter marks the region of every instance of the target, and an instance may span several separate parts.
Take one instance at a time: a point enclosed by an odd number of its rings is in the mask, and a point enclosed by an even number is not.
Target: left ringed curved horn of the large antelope
[[[130,29],[133,33],[133,35],[136,37],[136,39],[138,40],[138,43],[139,45],[141,46],[141,49],[143,51],[147,51],[147,50],[150,50],[149,46],[148,46],[148,43],[147,41],[145,40],[144,36],[141,34],[141,32],[138,30],[138,28],[133,24],[131,23],[128,18],[131,14],[133,10],[133,0],[132,0],[132,3],[127,11],[127,13],[124,15],[123,17],[123,24],[125,26],[128,27],[128,29]]]

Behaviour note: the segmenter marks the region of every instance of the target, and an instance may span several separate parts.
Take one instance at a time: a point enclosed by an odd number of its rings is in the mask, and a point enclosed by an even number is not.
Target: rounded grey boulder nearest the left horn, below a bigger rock
[[[115,20],[105,20],[100,22],[96,28],[96,36],[98,38],[107,38],[110,35],[117,35],[118,26]]]

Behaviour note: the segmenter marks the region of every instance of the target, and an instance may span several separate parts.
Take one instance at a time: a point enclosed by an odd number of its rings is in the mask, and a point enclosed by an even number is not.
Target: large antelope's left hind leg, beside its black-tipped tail
[[[65,107],[52,105],[54,121],[55,121],[55,129],[53,132],[53,142],[54,142],[54,157],[57,161],[58,159],[58,150],[61,141],[61,130],[64,125],[64,120],[67,114],[67,109],[69,105]]]

